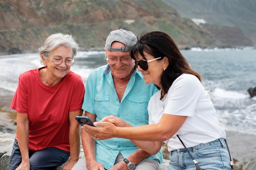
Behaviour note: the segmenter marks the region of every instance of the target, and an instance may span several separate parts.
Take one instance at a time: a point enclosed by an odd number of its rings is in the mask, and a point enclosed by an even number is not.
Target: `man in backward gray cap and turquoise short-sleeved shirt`
[[[129,48],[136,36],[124,29],[111,31],[105,44],[107,65],[96,68],[88,76],[83,100],[85,116],[92,121],[114,115],[131,126],[148,124],[148,101],[157,91],[153,84],[145,84],[137,71]],[[127,125],[117,125],[127,126]],[[72,170],[160,170],[162,153],[149,155],[122,138],[99,140],[82,130],[85,155]]]

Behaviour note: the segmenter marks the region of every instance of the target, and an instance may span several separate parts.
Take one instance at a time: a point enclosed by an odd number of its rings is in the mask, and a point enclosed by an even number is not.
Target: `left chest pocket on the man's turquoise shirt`
[[[96,93],[94,96],[95,114],[101,118],[108,116],[109,94]]]

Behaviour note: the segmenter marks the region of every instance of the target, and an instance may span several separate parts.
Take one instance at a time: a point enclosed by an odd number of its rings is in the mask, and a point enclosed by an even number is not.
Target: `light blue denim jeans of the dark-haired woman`
[[[187,149],[202,169],[231,170],[229,152],[224,139]],[[185,148],[171,151],[169,159],[166,170],[195,170],[195,164]]]

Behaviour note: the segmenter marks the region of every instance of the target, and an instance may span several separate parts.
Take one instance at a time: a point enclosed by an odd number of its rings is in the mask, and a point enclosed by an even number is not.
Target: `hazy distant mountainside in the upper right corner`
[[[256,1],[255,0],[162,0],[175,8],[182,17],[203,19],[218,26],[228,26],[231,32],[240,31],[256,46]],[[226,32],[227,28],[220,30]],[[232,34],[234,35],[237,34]],[[243,39],[243,38],[242,38]],[[231,39],[232,40],[232,39]],[[244,40],[241,40],[244,42]]]

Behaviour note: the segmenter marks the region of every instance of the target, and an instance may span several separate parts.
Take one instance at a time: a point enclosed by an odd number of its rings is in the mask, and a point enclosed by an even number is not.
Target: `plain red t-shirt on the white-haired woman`
[[[84,92],[82,77],[72,71],[54,86],[43,84],[38,68],[20,75],[10,107],[27,113],[29,150],[56,147],[70,152],[68,114],[81,109]]]

